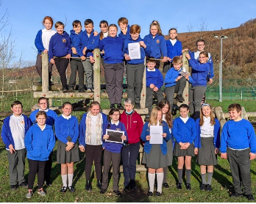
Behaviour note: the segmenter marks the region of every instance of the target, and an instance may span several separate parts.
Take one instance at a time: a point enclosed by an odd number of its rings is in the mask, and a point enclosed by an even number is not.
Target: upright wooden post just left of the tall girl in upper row
[[[93,85],[94,85],[94,101],[101,103],[101,55],[99,48],[93,50]]]

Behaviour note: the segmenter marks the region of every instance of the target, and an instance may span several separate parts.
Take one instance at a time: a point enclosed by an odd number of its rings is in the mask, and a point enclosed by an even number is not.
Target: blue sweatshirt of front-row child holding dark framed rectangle
[[[102,134],[102,138],[106,134],[108,124],[110,124],[110,128],[108,128],[110,130],[124,131],[124,135],[127,136],[127,140],[124,142],[128,142],[127,129],[125,128],[124,123],[121,123],[120,121],[119,121],[118,125],[111,124],[111,122],[108,122],[104,127],[104,134]],[[108,150],[112,153],[121,153],[121,148],[124,146],[123,144],[119,144],[119,143],[115,143],[115,142],[105,142],[104,139],[102,139],[102,142],[103,142],[102,147],[105,147],[105,150]]]

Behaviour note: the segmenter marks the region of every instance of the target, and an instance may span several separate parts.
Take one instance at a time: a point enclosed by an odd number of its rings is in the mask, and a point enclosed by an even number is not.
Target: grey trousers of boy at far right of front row
[[[227,148],[227,159],[230,162],[235,192],[252,194],[251,187],[251,161],[249,160],[249,148],[246,150],[231,150]],[[243,191],[241,187],[243,185]]]

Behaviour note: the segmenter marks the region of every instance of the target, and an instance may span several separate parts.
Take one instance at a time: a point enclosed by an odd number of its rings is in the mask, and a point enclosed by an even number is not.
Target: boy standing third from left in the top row
[[[79,34],[82,31],[82,24],[80,21],[74,21],[72,23],[73,29],[70,31],[70,40],[71,40],[71,57],[79,57],[77,51],[78,48],[75,47],[77,45],[77,40],[79,39]],[[69,86],[68,86],[68,92],[74,92],[75,86],[76,86],[76,76],[78,72],[78,90],[79,92],[85,92],[84,90],[84,67],[82,66],[82,60],[71,58],[70,59],[70,65],[71,65],[71,76],[69,78]]]

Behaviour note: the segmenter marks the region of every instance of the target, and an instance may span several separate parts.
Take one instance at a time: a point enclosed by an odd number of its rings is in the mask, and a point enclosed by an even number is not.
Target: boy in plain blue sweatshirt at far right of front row
[[[256,138],[252,124],[241,117],[241,105],[232,103],[229,108],[230,119],[224,124],[221,132],[221,158],[228,159],[235,193],[231,197],[244,195],[248,200],[252,196],[251,161],[255,159]],[[241,187],[243,185],[243,190]]]

